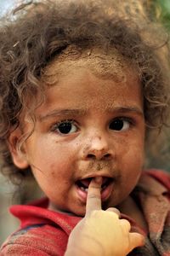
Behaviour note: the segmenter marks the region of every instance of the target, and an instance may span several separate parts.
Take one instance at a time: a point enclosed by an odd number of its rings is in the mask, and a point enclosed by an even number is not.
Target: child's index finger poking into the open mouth
[[[86,216],[94,210],[101,210],[101,184],[102,177],[95,177],[88,186],[88,197],[86,203]]]

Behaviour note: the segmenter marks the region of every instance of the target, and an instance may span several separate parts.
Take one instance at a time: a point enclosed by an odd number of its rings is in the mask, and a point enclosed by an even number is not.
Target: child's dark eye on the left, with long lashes
[[[60,134],[71,134],[73,132],[76,132],[77,130],[77,125],[74,124],[73,120],[60,121],[52,128],[52,131],[57,131]]]

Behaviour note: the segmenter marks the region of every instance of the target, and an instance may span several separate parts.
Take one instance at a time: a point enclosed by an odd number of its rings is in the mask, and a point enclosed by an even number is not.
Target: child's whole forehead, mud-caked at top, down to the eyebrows
[[[105,55],[54,61],[44,73],[46,102],[43,108],[105,109],[142,108],[139,79],[132,68]]]

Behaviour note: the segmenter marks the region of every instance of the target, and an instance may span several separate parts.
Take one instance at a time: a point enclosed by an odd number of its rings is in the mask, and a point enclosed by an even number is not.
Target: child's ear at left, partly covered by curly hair
[[[25,169],[29,166],[29,163],[26,159],[26,152],[24,152],[24,149],[22,150],[19,148],[21,137],[22,132],[20,131],[20,128],[17,127],[8,137],[8,148],[11,153],[14,165],[20,169]]]

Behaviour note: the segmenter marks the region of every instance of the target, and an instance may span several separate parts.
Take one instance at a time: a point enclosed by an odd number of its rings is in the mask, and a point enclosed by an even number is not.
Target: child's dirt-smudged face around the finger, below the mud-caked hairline
[[[55,210],[83,215],[88,178],[103,177],[104,208],[122,202],[138,182],[144,159],[143,97],[130,70],[126,80],[115,82],[88,67],[64,67],[65,76],[48,87],[46,102],[36,110],[25,161]],[[25,122],[29,131],[31,122]],[[15,156],[14,162],[20,166]]]

